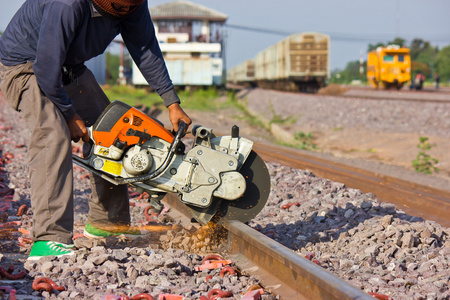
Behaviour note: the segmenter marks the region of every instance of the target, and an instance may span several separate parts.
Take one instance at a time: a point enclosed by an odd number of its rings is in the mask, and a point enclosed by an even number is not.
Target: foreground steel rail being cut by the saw
[[[167,194],[163,203],[172,208],[174,218],[189,226],[189,211],[174,194]],[[242,273],[258,278],[265,290],[280,299],[374,299],[239,221],[227,222],[224,228],[228,236],[223,255],[235,262]]]

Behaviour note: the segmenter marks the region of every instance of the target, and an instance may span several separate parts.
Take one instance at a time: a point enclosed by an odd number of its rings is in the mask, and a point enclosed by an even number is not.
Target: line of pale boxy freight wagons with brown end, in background
[[[296,33],[227,70],[227,83],[316,92],[330,78],[330,37]]]

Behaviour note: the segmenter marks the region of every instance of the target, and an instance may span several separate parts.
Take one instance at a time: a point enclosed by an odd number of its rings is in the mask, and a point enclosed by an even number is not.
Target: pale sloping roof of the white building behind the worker
[[[153,20],[185,19],[225,22],[228,18],[226,14],[185,0],[150,7],[150,14]]]

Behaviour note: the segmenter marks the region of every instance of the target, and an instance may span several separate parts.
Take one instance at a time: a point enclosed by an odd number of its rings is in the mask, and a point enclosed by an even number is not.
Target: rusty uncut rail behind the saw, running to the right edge
[[[255,143],[253,149],[265,161],[308,169],[320,177],[373,193],[378,200],[393,203],[408,214],[450,227],[448,191],[336,163],[292,148]]]

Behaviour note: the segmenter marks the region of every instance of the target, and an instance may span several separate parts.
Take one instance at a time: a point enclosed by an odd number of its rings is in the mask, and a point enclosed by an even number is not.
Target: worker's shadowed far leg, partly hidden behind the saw
[[[110,103],[91,71],[86,70],[76,82],[65,86],[77,113],[92,126]],[[92,194],[89,199],[88,222],[108,230],[130,223],[127,185],[114,185],[90,173]]]

